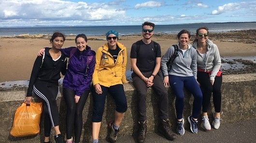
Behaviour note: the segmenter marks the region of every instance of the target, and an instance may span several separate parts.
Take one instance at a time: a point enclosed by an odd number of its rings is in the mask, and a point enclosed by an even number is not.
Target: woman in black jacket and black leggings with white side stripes
[[[46,48],[44,55],[36,58],[25,98],[25,102],[30,104],[33,90],[35,95],[43,101],[44,143],[50,143],[51,127],[55,130],[55,142],[63,143],[59,131],[56,98],[60,72],[65,75],[67,67],[66,57],[59,51],[64,41],[65,36],[62,33],[55,32],[50,39],[52,48]]]

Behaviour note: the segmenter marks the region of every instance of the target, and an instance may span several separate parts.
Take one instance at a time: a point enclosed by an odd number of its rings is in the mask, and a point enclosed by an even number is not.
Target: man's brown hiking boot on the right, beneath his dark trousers
[[[175,134],[171,131],[169,119],[162,119],[160,121],[159,131],[170,141],[175,139]]]

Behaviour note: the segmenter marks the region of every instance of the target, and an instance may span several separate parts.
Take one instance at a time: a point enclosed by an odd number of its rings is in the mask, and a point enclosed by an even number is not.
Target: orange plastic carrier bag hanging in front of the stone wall
[[[11,135],[14,137],[26,137],[39,133],[42,103],[21,104],[15,112]]]

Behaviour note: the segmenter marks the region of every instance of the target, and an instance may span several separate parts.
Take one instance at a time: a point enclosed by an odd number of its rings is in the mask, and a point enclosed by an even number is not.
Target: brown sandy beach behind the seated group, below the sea
[[[67,36],[63,48],[75,46],[73,36]],[[89,36],[88,45],[97,50],[106,43],[105,36]],[[119,36],[119,42],[127,47],[128,64],[132,43],[142,39],[142,36]],[[191,37],[191,42],[194,37]],[[232,31],[225,33],[210,33],[209,39],[215,43],[222,57],[226,56],[256,56],[256,30]],[[162,55],[172,45],[177,43],[176,35],[158,34],[153,40],[161,46]],[[0,82],[27,80],[30,78],[37,52],[43,47],[51,47],[49,37],[43,35],[20,35],[17,37],[0,37]],[[254,65],[255,66],[255,65]]]

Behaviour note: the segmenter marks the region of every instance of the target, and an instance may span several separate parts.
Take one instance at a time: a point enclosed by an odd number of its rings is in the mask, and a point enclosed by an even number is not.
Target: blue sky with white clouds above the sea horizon
[[[256,22],[256,0],[0,0],[0,26]]]

